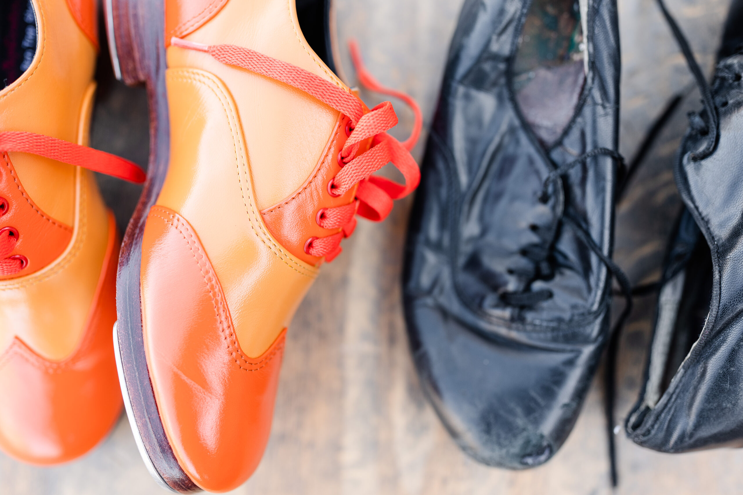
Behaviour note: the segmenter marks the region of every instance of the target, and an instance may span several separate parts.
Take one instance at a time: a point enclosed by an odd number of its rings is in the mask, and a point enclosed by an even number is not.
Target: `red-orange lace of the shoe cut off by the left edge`
[[[0,150],[36,154],[134,183],[143,183],[145,180],[142,169],[129,160],[32,132],[0,132]],[[0,197],[0,217],[11,207],[8,200]],[[28,259],[24,255],[10,255],[16,249],[19,238],[19,231],[14,227],[0,229],[0,276],[15,275],[28,265]]]

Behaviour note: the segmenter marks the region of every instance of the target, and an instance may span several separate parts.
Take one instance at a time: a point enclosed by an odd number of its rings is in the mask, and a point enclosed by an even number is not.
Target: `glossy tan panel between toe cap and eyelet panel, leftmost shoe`
[[[67,249],[32,275],[0,281],[0,350],[17,335],[43,358],[59,361],[80,343],[110,224],[93,173],[78,168],[76,174],[78,200]]]

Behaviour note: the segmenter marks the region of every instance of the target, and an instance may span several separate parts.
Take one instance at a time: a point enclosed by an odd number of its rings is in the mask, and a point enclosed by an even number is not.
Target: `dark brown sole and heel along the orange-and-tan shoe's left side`
[[[142,196],[121,243],[116,280],[114,347],[126,414],[149,472],[163,488],[201,491],[178,464],[160,421],[149,378],[142,332],[140,265],[142,236],[150,207],[160,194],[169,161],[165,88],[163,0],[104,0],[108,45],[117,79],[144,84],[149,101],[150,152]]]

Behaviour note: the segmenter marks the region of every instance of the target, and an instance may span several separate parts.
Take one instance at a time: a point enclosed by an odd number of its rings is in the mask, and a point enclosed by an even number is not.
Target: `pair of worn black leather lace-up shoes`
[[[666,13],[661,0],[658,4]],[[675,177],[640,401],[666,452],[743,443],[743,0]],[[460,447],[530,468],[561,447],[611,337],[620,53],[615,0],[467,0],[409,226],[403,298],[426,395]]]

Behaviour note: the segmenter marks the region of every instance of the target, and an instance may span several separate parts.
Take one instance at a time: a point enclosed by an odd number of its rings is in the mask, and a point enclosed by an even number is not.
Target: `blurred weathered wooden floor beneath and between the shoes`
[[[237,0],[233,0],[237,1]],[[615,259],[633,283],[652,281],[678,212],[671,163],[698,106],[691,78],[652,0],[619,0],[623,51],[621,151],[638,142],[678,92],[689,94],[637,174],[617,212]],[[340,38],[357,36],[371,72],[413,94],[426,125],[438,97],[461,0],[337,0]],[[708,71],[728,0],[669,0]],[[345,53],[345,47],[343,52]],[[345,59],[345,72],[353,76]],[[94,145],[143,163],[143,92],[100,71]],[[353,79],[351,79],[353,82]],[[367,103],[380,101],[363,94]],[[411,117],[400,110],[399,137]],[[424,140],[421,141],[422,143]],[[420,157],[422,144],[416,148]],[[126,222],[135,186],[103,180]],[[400,258],[409,201],[382,224],[361,221],[344,252],[323,269],[291,326],[265,457],[250,481],[232,492],[255,495],[607,494],[606,434],[600,380],[557,456],[531,471],[478,465],[450,440],[421,394],[400,308]],[[617,301],[618,310],[623,304]],[[620,354],[617,421],[637,398],[655,300],[636,301]],[[620,494],[743,492],[743,451],[664,455],[617,435]],[[126,417],[99,448],[58,468],[33,468],[0,454],[0,494],[160,494],[140,460]]]

